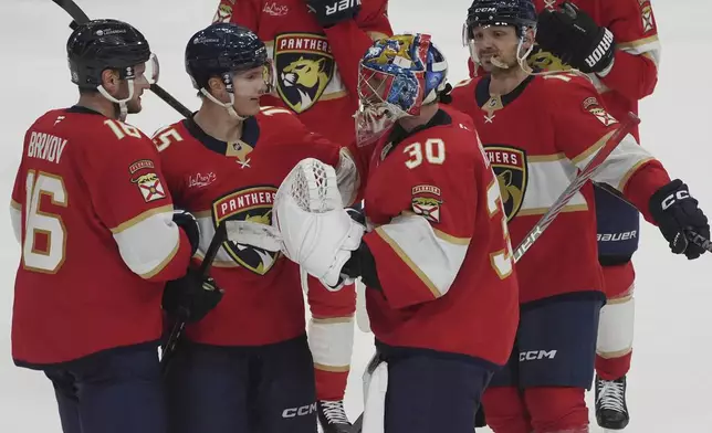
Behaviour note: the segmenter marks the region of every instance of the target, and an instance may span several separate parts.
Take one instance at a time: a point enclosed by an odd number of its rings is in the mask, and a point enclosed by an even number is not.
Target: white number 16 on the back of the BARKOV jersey
[[[52,204],[66,208],[64,181],[59,176],[30,170],[25,193],[28,209],[22,262],[30,271],[54,274],[64,263],[66,229],[60,215],[40,209],[40,201],[46,197]]]

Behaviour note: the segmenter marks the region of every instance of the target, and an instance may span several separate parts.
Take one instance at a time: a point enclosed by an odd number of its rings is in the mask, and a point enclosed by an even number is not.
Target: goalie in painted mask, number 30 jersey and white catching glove
[[[439,104],[447,71],[427,34],[378,40],[363,59],[359,125],[396,122],[362,155],[374,230],[352,221],[318,161],[301,161],[275,198],[289,257],[332,286],[367,286],[377,357],[364,432],[472,432],[513,345],[517,284],[500,188],[471,120]]]

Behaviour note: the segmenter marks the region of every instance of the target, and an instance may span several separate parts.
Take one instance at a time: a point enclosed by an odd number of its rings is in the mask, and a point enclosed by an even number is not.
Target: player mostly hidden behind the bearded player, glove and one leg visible
[[[650,1],[535,0],[534,6],[540,15],[528,64],[541,71],[582,71],[614,117],[638,114],[638,101],[658,82],[660,43]],[[471,60],[469,65],[474,74]],[[632,135],[640,142],[637,128]],[[600,426],[618,430],[629,421],[626,374],[635,314],[630,258],[638,249],[640,221],[635,208],[609,191],[595,187],[594,194],[608,297],[598,328],[596,415]]]

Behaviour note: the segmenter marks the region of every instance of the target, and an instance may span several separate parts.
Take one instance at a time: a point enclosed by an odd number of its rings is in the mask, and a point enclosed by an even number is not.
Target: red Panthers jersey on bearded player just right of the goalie
[[[618,122],[585,78],[530,76],[504,96],[490,95],[490,76],[452,92],[452,105],[478,128],[500,182],[513,245],[614,134]],[[659,161],[629,135],[594,180],[621,191],[651,221],[650,196],[670,181]],[[587,183],[517,262],[521,302],[576,291],[601,291],[593,186]]]

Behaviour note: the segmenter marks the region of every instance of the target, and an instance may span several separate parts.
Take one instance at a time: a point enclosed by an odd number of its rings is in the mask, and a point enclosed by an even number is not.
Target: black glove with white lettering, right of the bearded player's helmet
[[[569,2],[555,12],[543,10],[538,14],[536,43],[586,74],[608,73],[616,52],[610,30]]]

